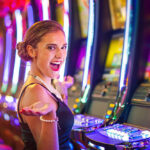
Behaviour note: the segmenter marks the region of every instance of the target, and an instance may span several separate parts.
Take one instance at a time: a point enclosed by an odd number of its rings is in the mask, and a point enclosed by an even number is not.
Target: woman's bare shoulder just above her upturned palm
[[[50,92],[40,84],[33,84],[28,86],[23,96],[23,107],[29,106],[38,101],[51,103],[52,106],[56,104]]]

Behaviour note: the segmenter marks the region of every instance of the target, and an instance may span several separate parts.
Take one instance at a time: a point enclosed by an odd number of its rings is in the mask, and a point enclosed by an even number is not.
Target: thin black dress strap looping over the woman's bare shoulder
[[[20,120],[21,120],[22,123],[24,123],[24,121],[23,121],[23,118],[22,118],[21,114],[19,113],[19,106],[20,106],[21,97],[22,97],[23,93],[25,92],[25,90],[27,89],[27,87],[30,86],[30,85],[33,85],[33,84],[39,84],[39,85],[41,85],[42,87],[44,87],[44,88],[45,88],[47,91],[49,91],[49,92],[51,93],[51,95],[56,99],[56,102],[61,101],[54,93],[52,93],[47,87],[45,87],[45,86],[44,86],[43,84],[41,84],[41,83],[36,82],[36,83],[30,83],[30,84],[26,85],[26,86],[24,87],[24,89],[22,90],[21,94],[20,94],[20,97],[19,97],[19,99],[18,99],[18,105],[17,105],[18,115],[19,115],[19,118],[20,118]]]

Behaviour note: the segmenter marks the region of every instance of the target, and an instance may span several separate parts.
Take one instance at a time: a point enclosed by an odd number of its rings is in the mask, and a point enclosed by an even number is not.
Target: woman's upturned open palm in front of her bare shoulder
[[[50,106],[50,103],[44,103],[43,101],[38,101],[28,107],[22,108],[19,112],[24,115],[30,115],[30,116],[41,116],[46,115],[52,111],[52,108]]]

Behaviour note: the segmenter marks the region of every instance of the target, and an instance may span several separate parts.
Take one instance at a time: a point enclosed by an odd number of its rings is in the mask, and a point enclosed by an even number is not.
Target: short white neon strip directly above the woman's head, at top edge
[[[42,0],[43,20],[49,20],[49,1]]]

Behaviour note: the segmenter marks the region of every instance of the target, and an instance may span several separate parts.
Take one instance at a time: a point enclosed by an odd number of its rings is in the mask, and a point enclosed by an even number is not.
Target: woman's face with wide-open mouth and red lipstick
[[[44,77],[58,78],[66,59],[67,43],[62,31],[45,34],[37,44],[36,67]]]

